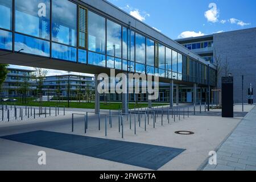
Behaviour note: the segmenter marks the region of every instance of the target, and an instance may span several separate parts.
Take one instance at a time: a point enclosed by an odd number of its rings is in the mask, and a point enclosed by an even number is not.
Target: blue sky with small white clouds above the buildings
[[[108,0],[172,39],[255,27],[255,0]]]

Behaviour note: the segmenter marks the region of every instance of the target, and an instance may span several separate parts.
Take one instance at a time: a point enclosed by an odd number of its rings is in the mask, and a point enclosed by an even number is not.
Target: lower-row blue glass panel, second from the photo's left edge
[[[15,34],[15,51],[49,57],[49,42]]]

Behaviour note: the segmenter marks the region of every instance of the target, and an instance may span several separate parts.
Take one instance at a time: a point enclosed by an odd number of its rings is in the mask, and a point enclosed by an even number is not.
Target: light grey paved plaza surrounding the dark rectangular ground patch
[[[235,111],[239,111],[241,106],[236,105],[234,108]],[[206,164],[205,162],[209,158],[209,151],[218,150],[218,159],[221,158],[219,162],[224,161],[225,157],[225,159],[228,159],[234,158],[236,155],[241,155],[241,157],[247,155],[246,159],[240,159],[238,156],[236,156],[237,164],[242,163],[245,165],[245,169],[253,169],[253,167],[255,167],[255,160],[253,160],[253,154],[255,154],[255,146],[251,145],[250,142],[253,142],[251,137],[255,127],[253,128],[253,123],[248,120],[250,118],[254,118],[253,114],[255,114],[256,111],[255,108],[253,108],[254,106],[245,106],[245,111],[250,111],[250,113],[247,114],[246,118],[241,121],[242,117],[221,118],[216,115],[193,115],[193,107],[191,106],[189,110],[191,110],[190,112],[192,113],[189,112],[189,117],[186,113],[183,118],[183,114],[181,112],[180,116],[175,116],[175,122],[174,118],[172,118],[172,115],[170,115],[169,119],[167,118],[167,115],[163,115],[162,125],[162,115],[159,114],[156,116],[155,128],[154,117],[149,115],[148,120],[146,119],[146,131],[144,127],[145,115],[141,115],[141,126],[139,126],[138,114],[135,114],[136,134],[134,128],[134,115],[131,117],[131,129],[130,116],[123,116],[123,138],[122,132],[119,132],[117,117],[112,118],[112,127],[109,126],[109,117],[107,117],[108,127],[107,136],[105,136],[105,115],[108,115],[108,112],[101,114],[100,131],[98,130],[98,115],[88,113],[88,129],[86,130],[86,134],[84,132],[84,116],[75,115],[72,133],[71,114],[85,114],[85,110],[67,109],[67,114],[65,116],[59,115],[55,118],[39,118],[34,122],[1,122],[0,137],[43,130],[63,134],[117,140],[122,142],[150,144],[159,147],[185,149],[185,151],[183,151],[181,154],[175,156],[175,158],[172,158],[170,161],[160,167],[158,169],[160,171],[204,169]],[[117,112],[115,111],[114,114],[117,115]],[[170,123],[168,123],[168,120]],[[243,134],[243,131],[240,129],[241,125],[242,129],[249,128],[246,129],[245,134]],[[175,131],[192,131],[194,134],[178,135],[175,133]],[[234,133],[232,134],[233,131]],[[227,138],[228,140],[226,140]],[[237,138],[238,142],[233,144],[232,142],[235,140],[235,138]],[[222,142],[225,140],[228,143],[224,142],[222,144]],[[244,142],[244,140],[246,140],[246,142]],[[240,144],[241,141],[243,146]],[[73,140],[73,142],[76,143],[76,140]],[[239,154],[236,154],[239,151],[238,148],[233,150],[233,152],[227,151],[231,150],[232,147],[236,147],[237,145],[240,145],[240,148],[241,146],[243,147],[243,151],[241,150]],[[247,145],[248,147],[246,148],[245,146]],[[39,151],[46,152],[47,164],[45,166],[40,166],[38,164]],[[229,155],[230,153],[230,156],[223,155],[224,152],[226,155]],[[74,154],[72,152],[56,150],[51,147],[42,147],[37,144],[32,145],[24,142],[15,142],[3,138],[0,138],[0,161],[1,170],[150,170],[148,168],[114,162],[112,160]],[[246,165],[245,163],[249,161],[251,165]],[[229,165],[233,163],[230,161]],[[216,168],[213,166],[207,166],[205,169],[222,169],[221,164],[218,164],[215,167]],[[229,167],[228,163],[226,163],[226,167]],[[236,168],[232,167],[230,169]]]

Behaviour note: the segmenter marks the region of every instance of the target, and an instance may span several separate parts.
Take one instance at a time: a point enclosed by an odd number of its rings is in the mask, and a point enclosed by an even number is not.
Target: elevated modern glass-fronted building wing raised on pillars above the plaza
[[[0,0],[0,16],[0,54],[10,64],[216,85],[213,64],[103,0]]]

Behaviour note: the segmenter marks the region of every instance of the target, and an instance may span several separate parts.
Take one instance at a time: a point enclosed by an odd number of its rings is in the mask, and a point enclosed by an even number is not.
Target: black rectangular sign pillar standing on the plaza
[[[234,85],[233,77],[222,77],[222,117],[233,118],[234,117]]]

